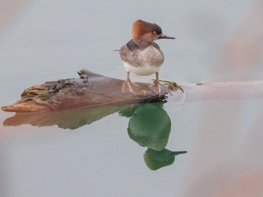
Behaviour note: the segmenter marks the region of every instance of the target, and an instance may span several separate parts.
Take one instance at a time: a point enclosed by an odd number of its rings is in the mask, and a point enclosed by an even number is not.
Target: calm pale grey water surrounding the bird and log
[[[125,79],[112,50],[131,39],[137,19],[176,37],[156,41],[165,54],[160,79],[262,80],[261,1],[18,2],[0,15],[1,106],[27,87],[77,78],[82,68]],[[1,10],[12,8],[7,4],[0,2]],[[166,149],[187,153],[156,171],[143,160],[147,148],[129,137],[130,119],[118,113],[74,130],[1,124],[0,195],[262,196],[262,102],[165,103],[171,119]],[[0,111],[1,122],[11,116]]]

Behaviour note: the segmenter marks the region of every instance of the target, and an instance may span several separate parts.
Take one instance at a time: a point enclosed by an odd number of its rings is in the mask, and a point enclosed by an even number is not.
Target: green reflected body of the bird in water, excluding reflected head
[[[156,151],[166,147],[171,120],[163,109],[163,103],[139,104],[119,113],[130,118],[127,130],[133,141]]]

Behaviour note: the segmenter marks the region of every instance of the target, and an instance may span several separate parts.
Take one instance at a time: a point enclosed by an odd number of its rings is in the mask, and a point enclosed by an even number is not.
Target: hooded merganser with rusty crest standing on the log
[[[149,89],[156,94],[167,94],[167,87],[159,83],[158,77],[164,55],[154,41],[161,38],[175,39],[175,37],[164,35],[159,25],[142,20],[137,20],[132,24],[131,37],[132,39],[120,48],[120,57],[127,70],[127,79],[122,86],[122,92],[135,94],[139,90],[139,86],[131,82],[130,72],[140,76],[155,73],[156,79]]]

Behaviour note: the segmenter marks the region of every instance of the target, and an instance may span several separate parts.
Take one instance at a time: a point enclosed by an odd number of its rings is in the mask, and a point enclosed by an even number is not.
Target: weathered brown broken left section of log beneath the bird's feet
[[[124,80],[113,79],[92,73],[86,69],[78,71],[80,79],[61,79],[27,88],[21,99],[10,106],[2,106],[9,112],[62,111],[97,106],[123,106],[126,104],[161,101],[165,95],[153,95],[149,83],[136,83],[140,91],[136,95],[123,94]]]

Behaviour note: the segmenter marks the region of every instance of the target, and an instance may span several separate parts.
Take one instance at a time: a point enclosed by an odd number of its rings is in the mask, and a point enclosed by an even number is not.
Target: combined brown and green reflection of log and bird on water
[[[16,113],[13,117],[7,118],[3,125],[57,125],[64,129],[77,129],[119,112],[120,116],[130,118],[127,129],[130,138],[139,145],[148,148],[143,156],[146,165],[151,170],[157,170],[171,165],[176,155],[186,153],[186,151],[173,152],[165,149],[171,132],[171,120],[163,109],[163,104],[164,102],[156,102],[62,112]]]

